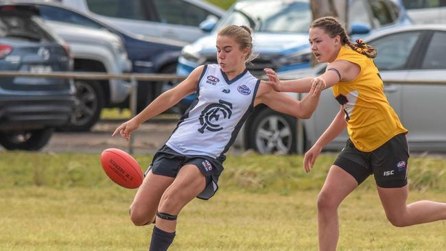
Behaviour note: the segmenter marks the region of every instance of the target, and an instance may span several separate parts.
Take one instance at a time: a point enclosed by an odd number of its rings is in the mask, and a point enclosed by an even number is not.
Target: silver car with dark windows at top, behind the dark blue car
[[[218,20],[224,10],[202,0],[58,0],[117,29],[191,43],[203,35],[198,27]]]

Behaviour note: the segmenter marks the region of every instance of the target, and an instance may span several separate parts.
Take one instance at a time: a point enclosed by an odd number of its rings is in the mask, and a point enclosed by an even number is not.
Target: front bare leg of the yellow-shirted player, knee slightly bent
[[[318,196],[319,250],[336,250],[339,239],[338,206],[355,188],[357,181],[344,169],[331,166]]]

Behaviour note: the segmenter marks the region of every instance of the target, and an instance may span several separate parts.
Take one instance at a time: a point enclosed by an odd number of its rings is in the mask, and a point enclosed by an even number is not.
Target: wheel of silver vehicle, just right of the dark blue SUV
[[[69,123],[60,128],[64,131],[84,132],[90,130],[99,120],[104,107],[104,93],[95,81],[76,80],[76,98],[74,112]]]

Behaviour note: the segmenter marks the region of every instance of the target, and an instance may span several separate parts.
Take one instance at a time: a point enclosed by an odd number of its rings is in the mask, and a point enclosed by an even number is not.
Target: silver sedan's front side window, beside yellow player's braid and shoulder
[[[401,32],[377,38],[370,44],[377,49],[373,60],[379,70],[403,70],[421,32]]]

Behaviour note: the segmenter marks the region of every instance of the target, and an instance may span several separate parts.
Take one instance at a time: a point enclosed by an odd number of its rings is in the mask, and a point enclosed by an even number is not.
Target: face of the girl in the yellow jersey
[[[333,62],[338,56],[341,47],[340,36],[331,38],[329,34],[325,33],[324,29],[314,27],[309,29],[308,40],[319,63]]]

